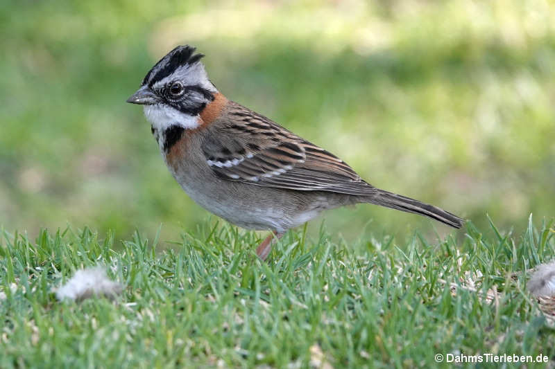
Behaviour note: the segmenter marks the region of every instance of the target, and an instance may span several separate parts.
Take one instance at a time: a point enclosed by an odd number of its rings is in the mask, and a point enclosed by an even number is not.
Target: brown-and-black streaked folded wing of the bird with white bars
[[[206,161],[219,177],[291,190],[375,193],[337,156],[268,118],[235,104],[228,114],[203,142]]]

